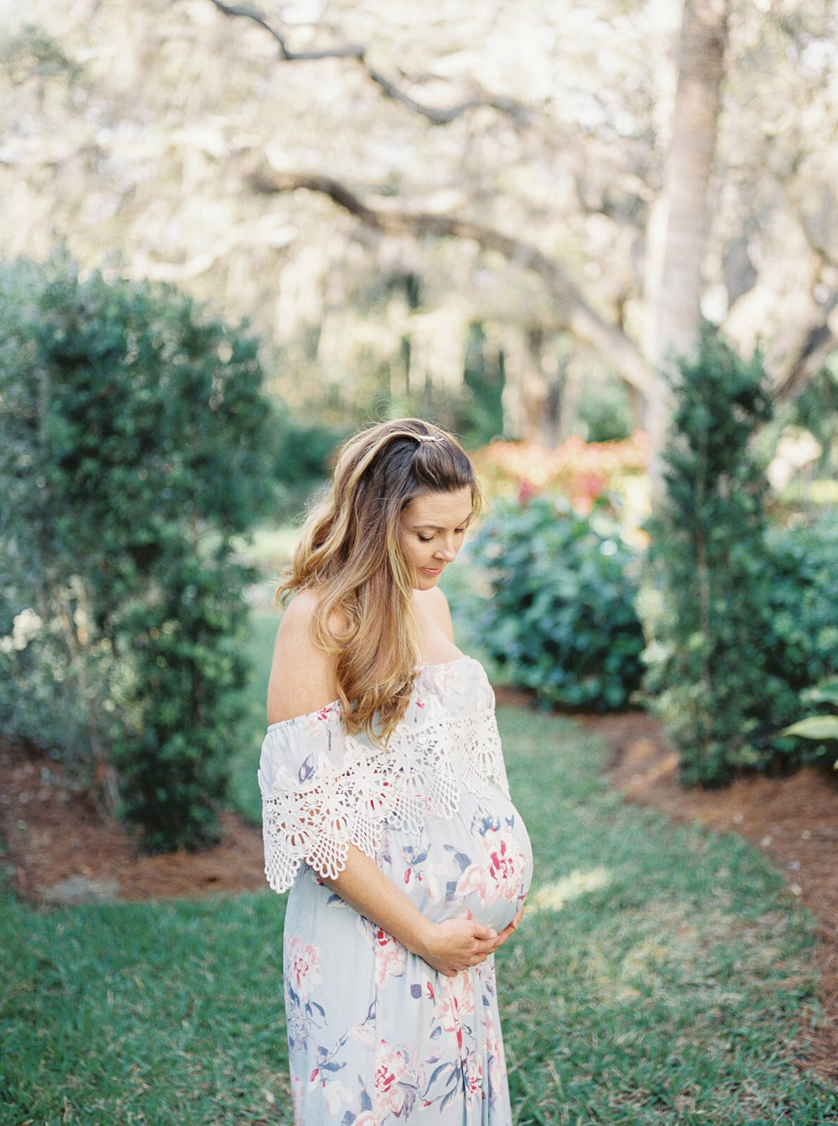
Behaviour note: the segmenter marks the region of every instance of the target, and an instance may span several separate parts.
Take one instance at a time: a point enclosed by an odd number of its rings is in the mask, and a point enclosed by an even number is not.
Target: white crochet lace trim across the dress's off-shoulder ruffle
[[[291,887],[301,860],[336,878],[350,842],[374,859],[382,826],[418,833],[426,816],[457,813],[463,793],[488,797],[496,785],[509,796],[492,704],[475,700],[453,717],[430,698],[425,712],[427,722],[400,727],[383,751],[346,736],[342,763],[319,754],[302,788],[282,767],[269,788],[259,772],[265,875],[275,892]]]

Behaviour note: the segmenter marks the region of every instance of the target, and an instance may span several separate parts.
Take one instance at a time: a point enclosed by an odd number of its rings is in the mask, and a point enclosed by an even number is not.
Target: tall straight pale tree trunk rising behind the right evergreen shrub
[[[707,185],[713,168],[724,77],[728,0],[685,0],[678,88],[657,220],[666,231],[648,358],[657,374],[647,429],[652,449],[666,440],[671,392],[663,370],[694,354],[701,323],[702,265],[707,242]],[[653,467],[654,472],[654,467]],[[659,474],[658,474],[659,477]]]

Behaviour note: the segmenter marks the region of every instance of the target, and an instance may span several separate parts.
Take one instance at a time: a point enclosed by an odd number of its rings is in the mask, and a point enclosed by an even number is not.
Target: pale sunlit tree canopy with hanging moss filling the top
[[[836,11],[715,9],[702,309],[788,395],[838,328]],[[297,402],[454,388],[476,321],[519,426],[603,360],[642,396],[679,42],[663,0],[34,0],[1,48],[0,245],[57,230],[249,313]]]

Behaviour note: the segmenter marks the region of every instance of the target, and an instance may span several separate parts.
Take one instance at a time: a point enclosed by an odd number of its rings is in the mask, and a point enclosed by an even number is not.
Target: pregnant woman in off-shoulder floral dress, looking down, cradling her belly
[[[476,502],[449,435],[374,426],[279,587],[259,784],[296,1126],[511,1124],[493,954],[532,855],[437,588]]]

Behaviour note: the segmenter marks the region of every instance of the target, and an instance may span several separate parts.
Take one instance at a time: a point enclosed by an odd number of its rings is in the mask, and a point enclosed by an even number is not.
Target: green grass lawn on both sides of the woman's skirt
[[[531,904],[603,877],[531,906],[496,956],[512,1120],[838,1120],[833,1085],[800,1066],[822,1019],[814,921],[765,857],[609,793],[606,749],[576,724],[498,721]],[[53,911],[0,896],[0,1121],[291,1126],[283,909],[267,890]]]

